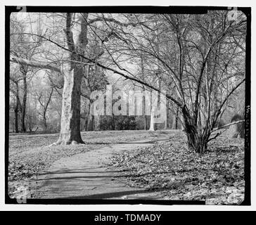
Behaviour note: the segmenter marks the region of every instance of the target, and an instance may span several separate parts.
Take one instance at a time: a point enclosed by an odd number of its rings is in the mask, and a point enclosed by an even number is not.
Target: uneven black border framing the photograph
[[[23,6],[5,6],[5,203],[18,204],[8,196],[8,131],[9,131],[9,78],[10,78],[10,15]],[[26,12],[89,12],[89,13],[191,13],[203,14],[207,11],[230,10],[224,6],[25,6]],[[245,199],[241,205],[251,204],[251,143],[250,143],[250,102],[251,102],[251,8],[238,7],[247,17],[245,51]],[[205,201],[195,200],[98,200],[98,199],[27,199],[27,204],[35,205],[205,205]]]

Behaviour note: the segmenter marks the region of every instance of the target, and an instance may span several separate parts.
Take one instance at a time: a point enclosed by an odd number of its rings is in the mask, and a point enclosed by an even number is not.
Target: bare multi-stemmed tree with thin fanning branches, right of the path
[[[134,18],[140,23],[144,19],[137,15]],[[221,134],[212,135],[229,97],[245,81],[246,19],[240,13],[238,20],[229,21],[227,11],[210,11],[205,15],[147,15],[147,18],[147,27],[141,26],[140,31],[134,27],[129,32],[120,28],[112,55],[123,54],[129,58],[143,54],[168,73],[162,82],[165,86],[170,81],[175,85],[177,94],[167,98],[182,115],[188,148],[204,153],[207,143]],[[155,20],[161,23],[156,26]],[[234,41],[234,34],[236,38],[243,36],[242,40]],[[160,91],[157,85],[135,78],[122,68],[118,57],[114,61],[124,71],[122,76]]]

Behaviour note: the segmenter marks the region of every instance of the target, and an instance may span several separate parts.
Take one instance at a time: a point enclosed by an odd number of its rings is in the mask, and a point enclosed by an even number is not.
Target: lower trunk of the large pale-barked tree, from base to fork
[[[65,70],[60,136],[57,144],[84,143],[80,134],[82,68]]]

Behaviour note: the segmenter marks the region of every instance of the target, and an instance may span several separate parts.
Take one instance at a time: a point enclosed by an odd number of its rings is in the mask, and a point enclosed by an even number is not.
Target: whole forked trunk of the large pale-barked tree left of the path
[[[74,41],[72,32],[72,13],[67,13],[65,34],[68,49],[70,51],[70,63],[63,69],[63,103],[61,113],[60,136],[55,144],[78,144],[84,143],[80,133],[80,96],[81,83],[84,75],[84,59],[79,54],[86,54],[88,13],[81,13],[75,24],[74,32],[77,33]],[[77,63],[81,62],[81,63]]]

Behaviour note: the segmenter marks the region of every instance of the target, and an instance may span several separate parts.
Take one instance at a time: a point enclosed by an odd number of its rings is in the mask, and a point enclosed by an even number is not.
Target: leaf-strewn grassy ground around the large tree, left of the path
[[[37,188],[37,174],[60,158],[150,136],[151,133],[147,131],[87,131],[82,132],[85,145],[49,147],[57,141],[58,134],[11,134],[8,148],[8,194],[13,198],[23,189],[32,194]]]

